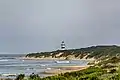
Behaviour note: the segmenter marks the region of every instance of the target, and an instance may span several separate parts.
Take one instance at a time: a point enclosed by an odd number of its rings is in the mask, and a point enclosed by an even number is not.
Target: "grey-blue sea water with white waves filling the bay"
[[[47,76],[43,74],[47,68],[58,66],[84,66],[87,65],[86,60],[71,60],[70,63],[56,63],[55,60],[23,60],[25,54],[0,54],[0,75],[1,77],[9,77],[5,74],[25,74],[26,76],[35,73],[41,77]]]

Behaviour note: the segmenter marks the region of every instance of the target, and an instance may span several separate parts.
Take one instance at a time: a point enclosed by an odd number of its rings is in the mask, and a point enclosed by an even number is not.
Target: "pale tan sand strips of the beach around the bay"
[[[24,60],[64,60],[65,58],[51,58],[51,57],[46,57],[46,58],[35,58],[35,57],[21,57],[20,59]],[[95,61],[94,58],[91,59],[76,59],[72,58],[70,60],[87,60],[88,62]],[[56,67],[53,69],[46,69],[43,73],[44,74],[60,74],[60,73],[66,73],[66,72],[73,72],[73,71],[79,71],[88,68],[89,65],[87,66],[61,66],[61,67]]]

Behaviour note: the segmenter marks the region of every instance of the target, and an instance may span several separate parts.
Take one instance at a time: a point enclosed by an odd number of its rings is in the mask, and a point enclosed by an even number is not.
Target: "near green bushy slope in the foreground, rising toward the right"
[[[87,69],[40,78],[31,74],[27,79],[19,75],[16,80],[120,80],[120,57],[106,57]]]

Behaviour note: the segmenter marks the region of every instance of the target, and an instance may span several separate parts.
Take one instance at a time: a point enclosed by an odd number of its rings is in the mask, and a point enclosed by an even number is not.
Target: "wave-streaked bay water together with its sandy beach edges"
[[[21,55],[19,55],[21,56]],[[1,56],[0,57],[0,74],[2,78],[16,77],[19,74],[25,74],[26,76],[35,73],[40,77],[46,77],[49,75],[65,72],[71,72],[84,69],[81,66],[87,66],[88,60],[74,59],[68,60],[70,63],[56,63],[55,61],[64,60],[58,58],[28,58],[19,56]],[[79,68],[78,68],[78,67]],[[73,69],[73,67],[76,69]],[[51,68],[51,70],[50,70]],[[69,69],[68,69],[69,68]],[[70,69],[71,68],[71,69]],[[49,70],[48,70],[49,69]],[[50,72],[54,74],[49,74]],[[13,76],[14,74],[14,76]]]

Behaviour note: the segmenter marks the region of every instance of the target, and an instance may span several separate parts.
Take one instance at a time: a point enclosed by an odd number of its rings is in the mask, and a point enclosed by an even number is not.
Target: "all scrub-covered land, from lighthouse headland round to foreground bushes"
[[[64,53],[59,56],[57,54]],[[92,46],[81,49],[57,50],[52,52],[30,53],[26,57],[53,57],[60,58],[69,55],[75,58],[95,58],[93,65],[87,69],[67,72],[56,76],[40,78],[36,74],[30,75],[27,79],[19,75],[16,80],[120,80],[120,47],[119,46]]]

